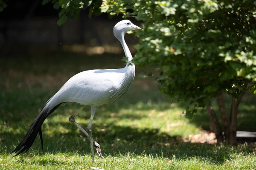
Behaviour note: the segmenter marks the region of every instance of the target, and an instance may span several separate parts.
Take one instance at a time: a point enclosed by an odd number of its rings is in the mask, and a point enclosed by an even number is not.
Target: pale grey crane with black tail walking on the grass
[[[121,20],[113,27],[113,34],[122,45],[127,62],[124,68],[119,69],[95,69],[82,71],[71,77],[43,106],[41,112],[30,126],[23,140],[12,151],[16,153],[26,152],[34,143],[39,133],[41,147],[43,149],[42,124],[47,117],[57,108],[67,102],[78,103],[79,109],[69,118],[69,121],[76,125],[90,141],[91,159],[94,162],[94,150],[100,158],[103,158],[100,145],[93,140],[92,123],[96,108],[104,104],[112,104],[121,98],[131,87],[135,77],[135,65],[133,57],[125,43],[125,33],[130,30],[141,29],[131,23],[130,20]],[[91,115],[87,131],[84,130],[75,120],[75,116],[85,107],[91,107]]]

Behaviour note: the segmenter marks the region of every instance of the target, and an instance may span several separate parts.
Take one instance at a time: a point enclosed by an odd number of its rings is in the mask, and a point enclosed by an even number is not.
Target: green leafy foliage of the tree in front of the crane
[[[121,7],[120,7],[121,6]],[[131,12],[127,12],[128,9]],[[104,0],[102,12],[143,21],[134,61],[189,113],[219,92],[256,92],[256,3],[250,0]],[[249,87],[248,87],[249,86]]]

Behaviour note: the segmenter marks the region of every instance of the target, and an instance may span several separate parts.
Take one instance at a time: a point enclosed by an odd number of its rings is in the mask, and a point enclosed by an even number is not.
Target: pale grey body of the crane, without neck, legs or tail
[[[134,65],[120,69],[83,71],[71,77],[48,105],[54,107],[60,103],[75,102],[98,107],[111,104],[131,87],[134,76]]]

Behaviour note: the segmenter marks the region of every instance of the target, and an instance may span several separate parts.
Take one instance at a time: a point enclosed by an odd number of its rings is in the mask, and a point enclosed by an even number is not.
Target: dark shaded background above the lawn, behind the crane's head
[[[88,52],[89,47],[95,46],[121,47],[113,36],[113,26],[122,20],[121,15],[110,18],[108,14],[101,14],[89,18],[89,8],[86,8],[78,19],[69,18],[67,23],[58,26],[58,10],[52,3],[42,5],[42,0],[8,0],[6,3],[7,7],[0,12],[0,57],[28,54],[31,50]],[[134,18],[129,20],[139,24]],[[137,42],[132,36],[126,36],[128,45]],[[113,51],[108,47],[104,47],[104,53]],[[131,52],[134,53],[133,47]]]

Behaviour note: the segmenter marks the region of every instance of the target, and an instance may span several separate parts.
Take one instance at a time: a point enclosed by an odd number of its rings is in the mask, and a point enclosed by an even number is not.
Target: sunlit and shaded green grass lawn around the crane
[[[88,139],[68,121],[79,108],[76,104],[61,106],[46,119],[43,150],[37,138],[29,152],[12,157],[10,152],[23,139],[41,107],[67,79],[83,70],[120,68],[124,65],[121,58],[41,54],[0,59],[0,169],[256,169],[253,145],[183,142],[189,134],[209,128],[207,115],[187,119],[181,105],[168,101],[154,83],[137,77],[122,99],[96,110],[93,137],[101,145],[104,159],[96,156],[92,163]],[[241,130],[256,131],[253,101],[255,98],[249,96],[241,103]],[[89,118],[90,107],[86,107],[76,121],[86,128]]]

